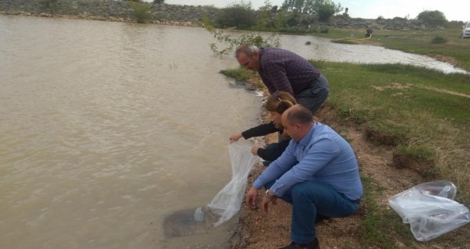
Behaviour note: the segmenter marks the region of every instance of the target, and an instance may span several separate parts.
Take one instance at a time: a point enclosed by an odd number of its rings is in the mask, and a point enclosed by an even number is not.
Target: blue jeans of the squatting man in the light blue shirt
[[[264,187],[268,189],[273,184],[271,181]],[[302,244],[315,240],[315,221],[318,219],[347,217],[359,207],[330,186],[315,181],[296,184],[278,198],[292,204],[291,239]]]

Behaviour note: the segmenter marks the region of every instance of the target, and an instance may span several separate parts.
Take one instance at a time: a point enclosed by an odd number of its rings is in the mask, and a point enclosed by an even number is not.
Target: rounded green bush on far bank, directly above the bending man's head
[[[250,28],[255,23],[255,12],[251,9],[251,1],[241,0],[222,9],[216,22],[221,27]]]

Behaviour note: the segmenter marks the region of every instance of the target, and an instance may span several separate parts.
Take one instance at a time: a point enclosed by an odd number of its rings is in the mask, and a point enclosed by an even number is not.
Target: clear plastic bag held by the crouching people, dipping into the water
[[[207,205],[207,210],[216,216],[218,221],[213,223],[214,228],[234,216],[241,207],[248,175],[254,166],[257,157],[251,154],[251,145],[234,142],[229,145],[231,161],[231,181]],[[195,216],[197,213],[194,213]],[[199,215],[200,218],[200,215]]]

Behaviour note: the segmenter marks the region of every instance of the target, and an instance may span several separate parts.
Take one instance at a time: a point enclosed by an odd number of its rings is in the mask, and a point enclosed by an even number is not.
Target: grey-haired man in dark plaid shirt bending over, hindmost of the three
[[[328,80],[318,69],[291,51],[246,43],[236,48],[235,57],[242,67],[258,72],[271,95],[288,92],[313,114],[330,92]]]

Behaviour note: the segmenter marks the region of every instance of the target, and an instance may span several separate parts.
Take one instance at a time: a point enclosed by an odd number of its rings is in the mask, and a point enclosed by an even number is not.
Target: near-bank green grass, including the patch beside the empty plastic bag
[[[456,201],[470,205],[470,75],[446,75],[409,65],[312,63],[330,81],[326,105],[341,122],[362,129],[377,144],[391,145],[391,166],[417,171],[423,182],[453,182],[458,189]],[[256,74],[243,69],[224,73],[238,80],[256,79]],[[373,177],[362,175],[361,245],[395,248],[399,241],[404,248],[421,248],[395,211],[377,203],[385,187],[374,184]],[[465,248],[470,243],[466,233],[468,229],[462,228],[451,241],[447,236],[434,243]]]

